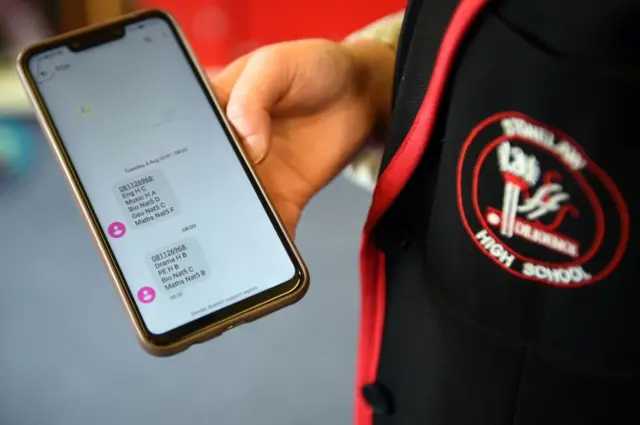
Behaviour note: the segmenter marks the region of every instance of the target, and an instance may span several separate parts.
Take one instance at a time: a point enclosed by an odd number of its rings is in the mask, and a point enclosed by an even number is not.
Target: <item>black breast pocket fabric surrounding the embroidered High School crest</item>
[[[640,106],[637,102],[627,103],[626,99],[640,98],[640,74],[628,77],[600,68],[575,66],[571,61],[549,56],[493,14],[483,18],[480,28],[463,53],[464,61],[456,73],[451,93],[447,142],[441,155],[427,238],[428,279],[437,284],[447,302],[469,320],[524,344],[567,357],[587,369],[604,374],[640,374],[640,333],[637,332],[640,286],[635,282],[638,268],[633,261],[640,256],[640,249],[633,228],[622,262],[603,282],[581,289],[560,289],[514,276],[491,261],[483,249],[476,246],[473,235],[463,228],[456,186],[456,167],[463,142],[472,129],[493,114],[520,111],[562,129],[575,139],[586,155],[617,184],[634,222],[639,211],[635,187],[640,178],[634,169],[635,156],[625,155],[624,150],[635,137]],[[507,60],[505,52],[509,52]],[[477,166],[477,156],[482,149],[501,135],[500,125],[496,124],[494,131],[488,133],[478,136],[476,147],[469,149],[469,159],[462,170],[464,215],[474,235],[485,227],[477,223],[472,210],[473,167]],[[587,192],[577,180],[578,177],[585,179],[603,209],[605,233],[593,258],[580,267],[590,274],[603,270],[614,257],[621,232],[619,211],[604,180],[579,171],[573,181],[571,173],[562,171],[562,164],[555,158],[534,146],[520,147],[540,161],[539,185],[546,173],[560,173],[557,182],[569,196],[566,205],[575,207],[578,216],[565,218],[556,233],[580,242],[583,254],[595,244],[596,235],[596,214],[588,202]],[[477,183],[483,216],[485,208],[500,209],[505,190],[497,161],[493,159],[497,156],[491,155]],[[532,187],[532,196],[534,190]],[[546,222],[547,217],[557,216],[549,213],[540,220]],[[550,262],[558,264],[553,268],[567,269],[569,266],[564,264],[573,260],[522,239],[502,238],[501,243],[511,246],[516,254],[532,258],[529,264]],[[460,259],[464,259],[463,262]],[[460,267],[461,263],[464,267]],[[516,260],[509,271],[525,267],[518,263]]]

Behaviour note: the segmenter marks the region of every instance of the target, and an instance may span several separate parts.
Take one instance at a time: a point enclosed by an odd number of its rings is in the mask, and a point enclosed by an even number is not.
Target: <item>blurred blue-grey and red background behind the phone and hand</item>
[[[138,8],[171,12],[212,70],[264,44],[341,39],[404,0],[0,0],[0,425],[325,425],[352,419],[357,251],[369,195],[305,211],[294,307],[169,359],[146,355],[15,74],[27,44]]]

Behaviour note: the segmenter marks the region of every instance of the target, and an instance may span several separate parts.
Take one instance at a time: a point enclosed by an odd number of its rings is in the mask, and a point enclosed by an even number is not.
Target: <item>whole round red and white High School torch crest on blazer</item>
[[[523,279],[580,287],[626,249],[629,215],[614,182],[568,135],[501,113],[465,141],[458,208],[478,248]]]

